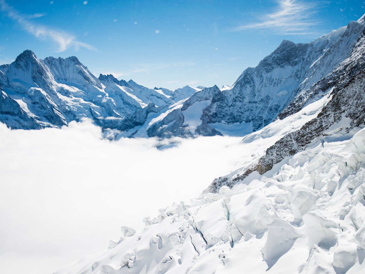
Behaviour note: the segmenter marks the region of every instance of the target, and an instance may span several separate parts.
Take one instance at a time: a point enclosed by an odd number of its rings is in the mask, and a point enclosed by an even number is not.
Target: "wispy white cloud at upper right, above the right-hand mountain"
[[[320,22],[314,19],[319,3],[298,0],[276,0],[278,7],[269,14],[258,16],[258,22],[233,28],[233,31],[249,29],[270,30],[276,34],[314,34],[313,27]]]

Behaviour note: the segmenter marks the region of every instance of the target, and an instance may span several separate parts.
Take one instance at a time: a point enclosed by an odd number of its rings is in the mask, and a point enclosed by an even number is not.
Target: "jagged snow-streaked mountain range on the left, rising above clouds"
[[[153,90],[112,75],[97,78],[74,56],[40,60],[31,50],[0,66],[0,90],[0,121],[13,129],[60,127],[84,117],[108,128],[111,120],[149,103],[171,105],[196,91]]]

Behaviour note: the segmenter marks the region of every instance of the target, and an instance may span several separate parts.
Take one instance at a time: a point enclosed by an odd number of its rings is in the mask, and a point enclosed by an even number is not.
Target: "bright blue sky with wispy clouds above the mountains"
[[[0,0],[0,64],[31,49],[147,87],[231,85],[283,39],[308,42],[364,1]]]

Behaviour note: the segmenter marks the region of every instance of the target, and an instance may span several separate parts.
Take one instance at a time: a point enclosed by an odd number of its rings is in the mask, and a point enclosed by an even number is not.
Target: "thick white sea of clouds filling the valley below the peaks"
[[[49,274],[106,249],[122,236],[120,226],[142,229],[143,217],[189,203],[235,170],[245,154],[240,141],[109,141],[88,120],[42,130],[0,123],[2,271]]]

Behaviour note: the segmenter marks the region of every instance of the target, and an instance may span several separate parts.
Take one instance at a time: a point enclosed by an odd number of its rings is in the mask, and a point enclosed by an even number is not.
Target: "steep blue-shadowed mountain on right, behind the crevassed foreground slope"
[[[204,88],[119,136],[128,137],[131,131],[144,137],[245,136],[296,113],[361,71],[363,21],[309,43],[284,40],[258,66],[247,68],[232,87]]]

